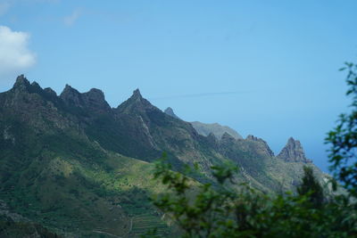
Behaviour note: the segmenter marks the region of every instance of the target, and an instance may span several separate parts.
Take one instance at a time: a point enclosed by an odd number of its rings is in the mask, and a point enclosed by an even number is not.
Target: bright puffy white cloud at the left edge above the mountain
[[[36,63],[28,44],[28,33],[0,26],[0,76],[21,73]]]

